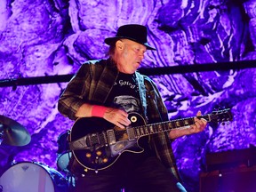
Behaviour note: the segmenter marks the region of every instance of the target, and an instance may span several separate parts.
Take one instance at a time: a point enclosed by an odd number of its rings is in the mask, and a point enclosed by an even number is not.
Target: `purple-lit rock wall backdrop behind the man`
[[[58,139],[74,122],[61,116],[57,100],[67,81],[4,85],[6,80],[74,74],[85,60],[105,57],[105,37],[124,24],[148,27],[141,68],[189,67],[256,60],[255,0],[1,0],[0,115],[22,124],[26,146],[0,146],[1,172],[16,162],[57,170]],[[246,62],[245,62],[246,63]],[[226,70],[150,76],[170,119],[230,108],[234,120],[175,140],[180,174],[188,191],[199,191],[205,155],[256,144],[256,70]],[[65,172],[64,172],[65,173]],[[63,173],[63,174],[64,174]]]

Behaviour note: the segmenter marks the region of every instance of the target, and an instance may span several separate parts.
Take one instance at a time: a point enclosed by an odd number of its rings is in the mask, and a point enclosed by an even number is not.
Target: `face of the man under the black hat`
[[[116,65],[120,72],[133,74],[140,67],[147,47],[129,39],[121,39],[116,44],[118,50]]]

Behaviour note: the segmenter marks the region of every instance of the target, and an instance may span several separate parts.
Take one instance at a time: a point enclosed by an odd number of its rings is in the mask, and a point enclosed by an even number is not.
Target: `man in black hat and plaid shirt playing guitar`
[[[146,124],[168,121],[167,109],[156,84],[148,76],[142,76],[136,71],[140,67],[144,53],[147,50],[156,50],[148,44],[147,28],[137,24],[121,26],[116,36],[106,38],[105,43],[110,45],[108,60],[90,60],[81,66],[60,96],[60,113],[76,121],[77,118],[79,121],[81,118],[84,119],[83,117],[91,117],[94,118],[95,124],[99,122],[98,119],[104,119],[113,124],[116,130],[127,128],[127,132],[133,120],[136,121],[139,117],[131,118],[131,113],[140,114]],[[128,108],[129,106],[131,108]],[[200,115],[201,112],[196,114]],[[77,158],[76,153],[80,152],[73,143],[70,146],[74,149],[76,158],[73,156],[69,163],[70,172],[76,176],[73,189],[76,192],[115,192],[121,188],[125,188],[125,192],[186,191],[180,184],[171,141],[183,135],[202,132],[205,126],[204,119],[195,118],[195,124],[187,129],[139,137],[140,147],[144,149],[141,153],[131,152],[130,148],[126,148],[130,152],[121,150],[121,153],[115,154],[113,148],[123,148],[130,141],[116,142],[118,146],[113,145],[114,147],[110,148],[110,155],[106,152],[108,158],[98,157],[101,156],[102,150],[98,151],[99,154],[95,152],[98,155],[90,162],[92,167],[89,168],[84,164],[84,159],[92,158],[90,150]],[[89,128],[85,125],[80,127],[81,136],[77,137],[78,141],[75,140],[78,144],[85,140],[79,140],[84,137],[84,129]],[[106,133],[102,135],[104,140],[107,140]],[[89,144],[85,141],[83,146],[87,148]],[[107,168],[100,167],[114,156],[118,156],[114,163],[108,164]],[[101,168],[99,172],[97,167]]]

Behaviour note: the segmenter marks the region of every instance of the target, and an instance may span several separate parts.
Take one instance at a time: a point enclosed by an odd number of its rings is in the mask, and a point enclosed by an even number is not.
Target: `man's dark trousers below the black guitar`
[[[76,176],[72,192],[176,192],[178,180],[156,156],[124,153],[105,170]],[[182,186],[181,186],[182,188]]]

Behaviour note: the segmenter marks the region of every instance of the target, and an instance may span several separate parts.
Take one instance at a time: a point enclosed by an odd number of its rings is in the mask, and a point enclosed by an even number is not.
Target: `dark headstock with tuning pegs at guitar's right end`
[[[209,120],[212,123],[220,124],[232,121],[233,116],[230,108],[227,108],[218,111],[213,111],[212,114],[209,114]]]

